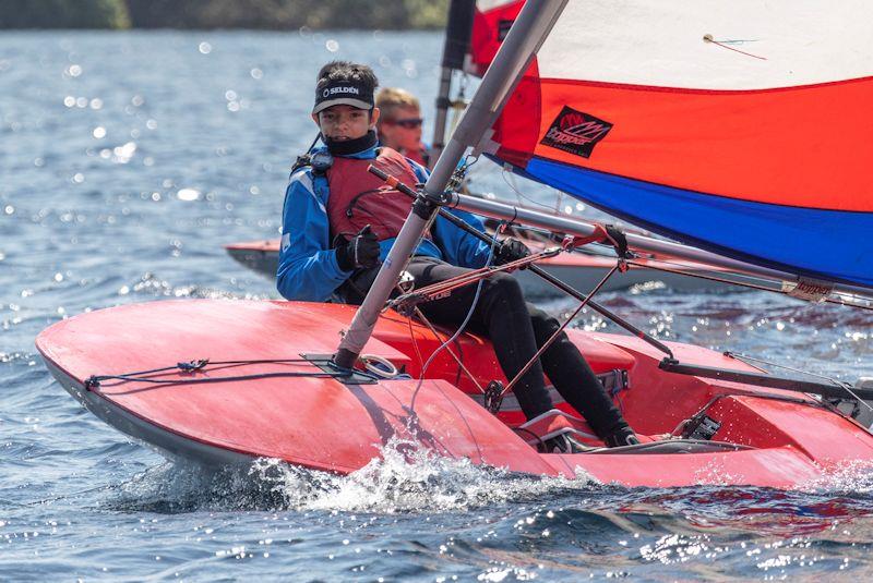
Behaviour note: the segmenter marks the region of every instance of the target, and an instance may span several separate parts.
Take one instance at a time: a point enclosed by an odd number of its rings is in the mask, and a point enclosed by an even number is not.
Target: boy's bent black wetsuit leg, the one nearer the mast
[[[414,257],[406,270],[415,278],[416,288],[469,271],[430,257]],[[419,307],[431,321],[456,327],[464,321],[475,295],[476,284],[473,283],[453,290],[449,297]],[[494,274],[482,280],[468,329],[494,340],[494,353],[506,378],[514,378],[537,352],[537,339],[522,288],[509,274]],[[534,363],[513,390],[527,418],[552,408],[539,362]]]

